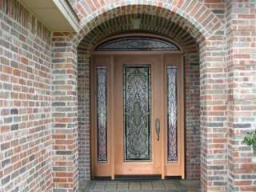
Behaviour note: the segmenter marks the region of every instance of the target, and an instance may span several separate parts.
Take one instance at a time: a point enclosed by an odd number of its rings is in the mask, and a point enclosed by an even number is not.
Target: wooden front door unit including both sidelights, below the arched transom
[[[94,54],[92,176],[184,178],[181,54]]]

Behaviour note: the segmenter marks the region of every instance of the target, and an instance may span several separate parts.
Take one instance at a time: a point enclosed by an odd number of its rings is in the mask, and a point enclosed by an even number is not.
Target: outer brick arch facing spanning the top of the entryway
[[[204,4],[194,0],[190,1],[78,1],[73,4],[74,10],[80,16],[80,30],[74,35],[76,45],[82,41],[86,34],[94,27],[124,14],[152,14],[178,23],[193,37],[200,40],[210,37],[221,26],[222,21]],[[97,5],[95,5],[95,3]],[[97,7],[97,8],[96,8]]]

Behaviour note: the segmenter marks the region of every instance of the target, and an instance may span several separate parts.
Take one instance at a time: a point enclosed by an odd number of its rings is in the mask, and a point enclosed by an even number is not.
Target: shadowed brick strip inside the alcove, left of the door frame
[[[78,170],[79,186],[90,180],[90,54],[78,46]]]

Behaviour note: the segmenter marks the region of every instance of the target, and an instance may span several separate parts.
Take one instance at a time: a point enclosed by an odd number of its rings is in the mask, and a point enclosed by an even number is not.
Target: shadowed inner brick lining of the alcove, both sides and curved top
[[[141,18],[141,25],[134,30],[132,25],[133,18]],[[123,23],[123,25],[121,25]],[[194,135],[194,131],[199,133],[199,47],[198,42],[181,26],[175,22],[170,22],[166,18],[161,18],[151,14],[126,14],[116,18],[110,18],[99,26],[94,27],[90,33],[86,34],[82,42],[78,46],[78,141],[83,143],[79,146],[79,178],[90,179],[90,166],[86,164],[86,154],[84,149],[89,149],[90,146],[86,142],[82,142],[85,135],[82,133],[90,133],[90,126],[86,125],[86,111],[90,109],[86,106],[85,90],[82,87],[89,86],[86,84],[86,77],[89,73],[89,57],[90,52],[98,42],[104,41],[115,34],[124,33],[148,33],[158,34],[166,38],[170,38],[176,44],[182,47],[185,56],[186,69],[186,177],[200,177],[200,135]],[[89,87],[88,87],[89,90]],[[88,93],[87,93],[88,95]],[[191,118],[193,117],[193,118]],[[87,120],[89,121],[89,120]],[[79,136],[81,135],[81,137]],[[86,134],[86,138],[90,134]]]

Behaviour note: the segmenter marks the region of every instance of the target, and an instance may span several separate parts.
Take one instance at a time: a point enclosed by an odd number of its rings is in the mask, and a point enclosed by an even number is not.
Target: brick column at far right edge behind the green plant
[[[256,191],[255,155],[242,143],[256,129],[256,2],[226,1],[228,191]]]

